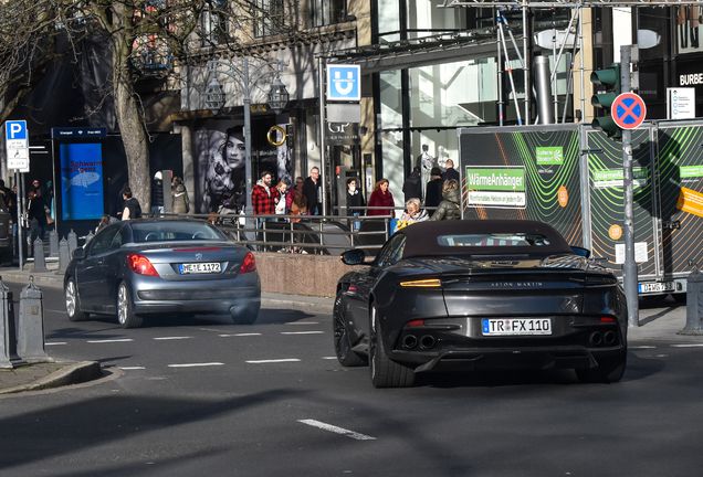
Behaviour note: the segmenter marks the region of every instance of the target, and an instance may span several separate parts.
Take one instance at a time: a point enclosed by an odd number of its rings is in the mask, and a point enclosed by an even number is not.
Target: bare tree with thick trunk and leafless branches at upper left
[[[112,88],[119,132],[127,156],[129,186],[149,210],[151,181],[148,130],[135,85],[149,67],[145,52],[175,62],[202,64],[208,57],[255,55],[255,35],[294,35],[286,10],[298,0],[19,0],[0,2],[0,96],[14,95],[0,113],[4,119],[39,83],[53,61],[77,55],[71,46],[90,35],[107,40]],[[258,30],[259,29],[259,30]],[[57,39],[69,47],[59,51]],[[150,72],[149,72],[150,73]],[[172,68],[164,71],[167,76]],[[166,78],[168,80],[168,78]],[[109,93],[108,93],[109,94]],[[90,114],[90,112],[88,112]]]

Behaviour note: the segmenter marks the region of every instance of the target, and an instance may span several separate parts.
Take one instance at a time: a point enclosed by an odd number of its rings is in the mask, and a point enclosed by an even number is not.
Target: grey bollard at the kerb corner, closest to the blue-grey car
[[[42,290],[30,283],[20,293],[20,325],[17,333],[17,353],[27,362],[52,362],[44,351],[44,305]]]

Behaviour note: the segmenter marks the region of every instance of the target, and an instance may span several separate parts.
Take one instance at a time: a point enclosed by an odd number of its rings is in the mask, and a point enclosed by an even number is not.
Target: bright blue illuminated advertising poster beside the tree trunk
[[[99,144],[62,144],[63,220],[99,219],[103,205],[103,149]]]

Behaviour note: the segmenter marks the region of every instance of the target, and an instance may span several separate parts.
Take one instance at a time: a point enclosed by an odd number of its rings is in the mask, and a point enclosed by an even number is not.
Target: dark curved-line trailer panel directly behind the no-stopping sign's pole
[[[588,155],[590,177],[590,220],[592,253],[607,257],[613,268],[625,261],[625,172],[622,141],[608,138],[604,132],[586,132],[588,149],[600,150]],[[632,189],[634,214],[636,259],[639,277],[655,274],[657,227],[652,183],[652,144],[649,129],[632,131]]]

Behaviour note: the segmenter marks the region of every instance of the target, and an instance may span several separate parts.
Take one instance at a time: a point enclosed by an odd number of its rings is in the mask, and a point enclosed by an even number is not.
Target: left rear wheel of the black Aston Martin
[[[409,388],[415,383],[415,370],[399,364],[386,354],[380,335],[380,324],[376,319],[376,306],[371,306],[369,339],[369,370],[374,388]]]

